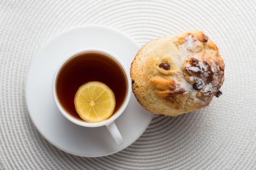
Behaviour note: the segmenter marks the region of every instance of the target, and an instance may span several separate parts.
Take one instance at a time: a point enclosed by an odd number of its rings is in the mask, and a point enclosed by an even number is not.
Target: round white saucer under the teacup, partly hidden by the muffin
[[[75,51],[99,48],[119,56],[127,69],[140,46],[127,35],[102,26],[83,26],[65,31],[51,39],[32,62],[26,81],[26,102],[37,130],[51,144],[79,156],[104,156],[128,147],[149,125],[152,114],[144,110],[133,94],[125,112],[115,120],[123,136],[120,146],[105,126],[88,128],[76,125],[59,112],[51,92],[54,71]]]

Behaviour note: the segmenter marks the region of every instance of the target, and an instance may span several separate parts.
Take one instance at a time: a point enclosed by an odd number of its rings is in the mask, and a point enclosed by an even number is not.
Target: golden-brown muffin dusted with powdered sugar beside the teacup
[[[174,34],[138,51],[130,68],[132,91],[153,114],[178,116],[222,94],[224,68],[216,44],[203,32]]]

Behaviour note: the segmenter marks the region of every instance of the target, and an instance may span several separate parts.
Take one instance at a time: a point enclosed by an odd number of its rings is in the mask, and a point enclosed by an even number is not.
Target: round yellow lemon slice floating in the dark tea
[[[106,120],[116,105],[113,91],[101,82],[88,82],[80,86],[74,103],[79,116],[87,122]]]

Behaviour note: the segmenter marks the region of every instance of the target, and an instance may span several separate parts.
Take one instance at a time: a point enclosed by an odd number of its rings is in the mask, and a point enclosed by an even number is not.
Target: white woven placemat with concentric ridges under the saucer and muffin
[[[1,170],[256,170],[256,1],[0,0]],[[127,149],[105,157],[64,153],[35,129],[25,104],[33,57],[60,32],[98,24],[143,45],[192,29],[226,63],[223,95],[196,113],[155,116]]]

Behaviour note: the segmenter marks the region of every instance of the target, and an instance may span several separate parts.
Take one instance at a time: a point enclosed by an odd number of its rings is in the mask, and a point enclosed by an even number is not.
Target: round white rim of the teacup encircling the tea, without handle
[[[67,113],[67,111],[62,107],[61,103],[58,100],[57,94],[56,94],[56,79],[58,77],[58,74],[61,70],[61,68],[63,67],[63,65],[70,60],[71,58],[75,57],[77,54],[79,53],[83,53],[83,52],[89,52],[89,51],[96,51],[96,52],[102,52],[105,53],[107,55],[109,55],[110,57],[112,57],[116,62],[118,62],[121,67],[123,68],[123,70],[125,71],[126,74],[126,78],[127,78],[127,83],[128,83],[128,88],[127,88],[127,95],[126,95],[126,99],[125,102],[123,103],[122,107],[114,114],[112,115],[110,118],[101,121],[101,122],[96,122],[96,123],[90,123],[90,122],[86,122],[85,120],[82,119],[77,119],[74,118],[73,116],[71,116],[69,113]],[[125,65],[123,64],[123,62],[113,53],[109,52],[109,51],[105,51],[103,49],[98,49],[98,48],[86,48],[86,49],[82,49],[79,51],[75,51],[74,53],[72,53],[71,55],[69,55],[56,69],[54,76],[53,76],[53,80],[52,80],[52,95],[53,95],[53,99],[54,102],[56,104],[56,106],[58,107],[58,109],[60,110],[60,112],[62,113],[62,115],[70,120],[71,122],[80,125],[80,126],[85,126],[85,127],[99,127],[99,126],[104,126],[104,125],[108,125],[110,123],[112,123],[115,119],[117,119],[126,109],[128,102],[130,100],[130,95],[131,95],[131,81],[129,80],[129,72],[127,70],[127,68],[125,67]]]

